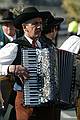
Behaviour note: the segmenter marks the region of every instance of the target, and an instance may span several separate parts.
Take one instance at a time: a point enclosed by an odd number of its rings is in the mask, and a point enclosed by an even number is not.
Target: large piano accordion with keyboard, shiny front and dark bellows
[[[39,106],[49,101],[73,103],[75,60],[73,53],[55,48],[23,48],[22,65],[30,78],[24,82],[24,106]]]

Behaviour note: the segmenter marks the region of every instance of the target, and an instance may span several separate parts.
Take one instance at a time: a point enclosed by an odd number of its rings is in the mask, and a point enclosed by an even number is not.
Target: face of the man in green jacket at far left
[[[16,32],[16,28],[13,23],[4,23],[2,25],[3,32],[5,32],[9,36],[14,36]]]

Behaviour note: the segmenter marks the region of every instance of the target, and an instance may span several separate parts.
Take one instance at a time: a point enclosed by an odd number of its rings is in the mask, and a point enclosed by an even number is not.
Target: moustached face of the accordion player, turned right
[[[42,31],[42,18],[34,18],[23,24],[24,34],[31,39],[36,40],[40,37]]]

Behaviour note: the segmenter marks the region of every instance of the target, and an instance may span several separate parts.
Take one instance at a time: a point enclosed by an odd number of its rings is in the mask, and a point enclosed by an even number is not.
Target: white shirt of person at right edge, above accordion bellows
[[[59,49],[73,52],[75,54],[80,50],[80,37],[76,35],[70,36]]]

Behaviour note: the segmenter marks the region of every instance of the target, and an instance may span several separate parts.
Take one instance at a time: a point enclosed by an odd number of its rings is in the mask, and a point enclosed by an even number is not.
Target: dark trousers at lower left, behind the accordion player
[[[3,114],[5,115],[7,111],[7,106],[8,104],[11,104],[13,106],[9,120],[16,120],[16,112],[15,112],[15,98],[16,98],[16,91],[14,91],[12,84],[8,80],[3,80],[1,81],[1,91],[4,99],[4,112]]]

